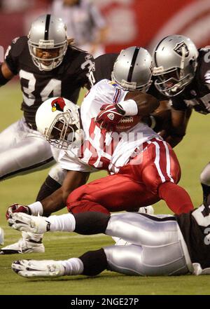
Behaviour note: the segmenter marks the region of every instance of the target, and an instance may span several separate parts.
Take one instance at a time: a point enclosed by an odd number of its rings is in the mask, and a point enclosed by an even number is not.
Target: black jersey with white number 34
[[[92,56],[68,46],[61,64],[51,71],[41,71],[34,64],[27,44],[27,36],[14,39],[6,53],[6,64],[13,74],[19,74],[23,101],[22,111],[27,123],[36,128],[38,107],[49,97],[65,97],[76,103],[80,88],[88,81]]]

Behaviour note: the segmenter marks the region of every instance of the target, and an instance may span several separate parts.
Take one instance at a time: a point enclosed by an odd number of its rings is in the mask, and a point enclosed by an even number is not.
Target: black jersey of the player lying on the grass
[[[200,206],[188,214],[176,215],[183,238],[186,241],[192,263],[202,268],[210,267],[210,210]]]

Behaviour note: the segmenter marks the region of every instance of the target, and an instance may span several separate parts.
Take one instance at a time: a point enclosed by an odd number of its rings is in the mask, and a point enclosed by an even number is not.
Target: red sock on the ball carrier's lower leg
[[[190,195],[184,188],[173,182],[165,182],[159,186],[159,197],[165,200],[167,206],[174,214],[190,212],[194,209]]]

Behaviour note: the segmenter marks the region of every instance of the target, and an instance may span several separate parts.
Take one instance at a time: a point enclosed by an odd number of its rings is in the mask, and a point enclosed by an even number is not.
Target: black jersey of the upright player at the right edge
[[[188,107],[201,114],[210,113],[210,49],[199,50],[198,65],[193,81],[186,86],[180,95],[171,97],[176,110],[186,110]]]

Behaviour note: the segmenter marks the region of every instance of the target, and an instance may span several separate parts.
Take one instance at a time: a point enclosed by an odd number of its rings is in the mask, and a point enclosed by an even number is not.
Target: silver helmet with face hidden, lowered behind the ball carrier
[[[126,90],[147,91],[153,73],[152,57],[138,46],[121,50],[113,66],[111,78]]]

